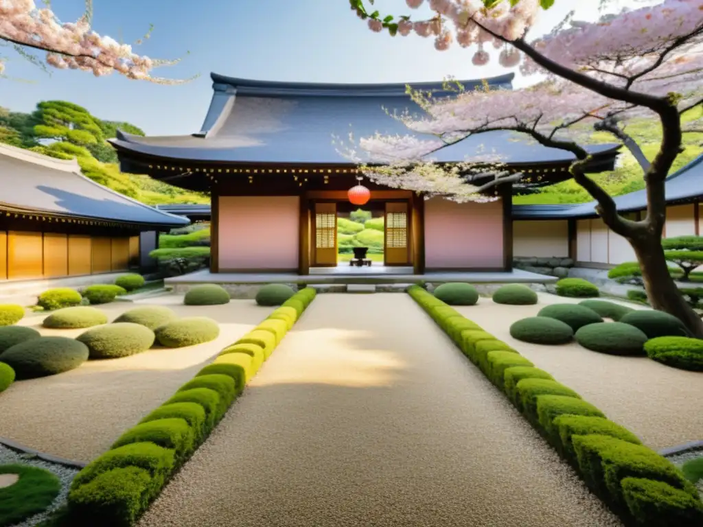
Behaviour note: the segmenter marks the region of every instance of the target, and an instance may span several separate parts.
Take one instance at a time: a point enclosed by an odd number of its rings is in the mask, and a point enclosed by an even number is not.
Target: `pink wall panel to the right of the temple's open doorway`
[[[425,202],[425,266],[503,268],[503,202]]]

